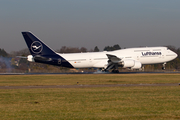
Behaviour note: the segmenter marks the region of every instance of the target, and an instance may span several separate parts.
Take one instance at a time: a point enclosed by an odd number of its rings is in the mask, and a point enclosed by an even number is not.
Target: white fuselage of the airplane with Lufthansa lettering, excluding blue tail
[[[65,58],[74,68],[106,68],[108,65],[107,54],[115,55],[120,61],[134,60],[143,64],[166,63],[177,57],[177,54],[167,47],[141,47],[127,48],[111,52],[89,52],[59,54]]]

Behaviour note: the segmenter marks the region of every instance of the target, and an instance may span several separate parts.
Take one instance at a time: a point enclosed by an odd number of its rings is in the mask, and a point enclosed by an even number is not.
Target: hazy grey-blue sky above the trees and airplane
[[[179,0],[0,0],[0,48],[26,48],[31,31],[52,49],[180,47]]]

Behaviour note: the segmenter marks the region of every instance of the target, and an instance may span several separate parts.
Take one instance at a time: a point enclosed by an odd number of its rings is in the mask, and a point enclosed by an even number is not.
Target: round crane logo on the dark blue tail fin
[[[38,54],[42,51],[42,49],[43,49],[43,46],[39,41],[35,41],[31,44],[31,51],[33,53]]]

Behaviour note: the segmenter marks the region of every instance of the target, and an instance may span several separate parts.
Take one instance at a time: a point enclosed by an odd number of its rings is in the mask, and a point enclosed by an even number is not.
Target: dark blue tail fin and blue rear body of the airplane
[[[56,54],[56,52],[31,32],[22,32],[22,35],[35,62],[73,68],[68,61],[59,54]]]

